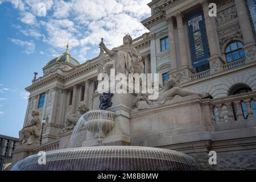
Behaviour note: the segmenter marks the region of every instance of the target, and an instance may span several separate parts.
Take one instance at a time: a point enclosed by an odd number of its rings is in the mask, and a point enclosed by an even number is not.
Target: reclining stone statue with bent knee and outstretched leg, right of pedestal
[[[169,78],[164,85],[164,88],[159,86],[159,97],[155,101],[148,100],[147,94],[137,94],[137,97],[133,101],[133,105],[138,110],[148,109],[150,105],[164,104],[167,100],[172,100],[174,96],[178,95],[181,97],[192,96],[197,94],[200,98],[212,98],[209,93],[194,93],[184,90],[180,84],[178,84],[174,78]]]

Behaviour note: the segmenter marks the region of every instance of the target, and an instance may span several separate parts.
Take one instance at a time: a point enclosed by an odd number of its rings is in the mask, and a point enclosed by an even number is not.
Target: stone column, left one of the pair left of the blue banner
[[[175,47],[175,37],[174,37],[174,18],[166,18],[168,23],[168,37],[169,37],[169,45],[170,45],[170,58],[171,58],[171,71],[177,69],[177,55],[176,55],[176,47]]]

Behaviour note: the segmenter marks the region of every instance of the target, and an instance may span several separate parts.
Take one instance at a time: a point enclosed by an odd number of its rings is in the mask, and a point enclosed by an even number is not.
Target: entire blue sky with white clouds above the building
[[[65,52],[80,63],[98,55],[101,37],[109,48],[147,32],[150,0],[0,0],[0,134],[18,137],[34,72]]]

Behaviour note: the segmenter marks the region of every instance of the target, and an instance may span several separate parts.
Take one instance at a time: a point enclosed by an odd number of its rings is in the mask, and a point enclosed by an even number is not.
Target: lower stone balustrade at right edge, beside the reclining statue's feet
[[[211,101],[212,120],[214,123],[245,121],[256,118],[256,92],[228,96]],[[254,110],[254,111],[253,111]]]

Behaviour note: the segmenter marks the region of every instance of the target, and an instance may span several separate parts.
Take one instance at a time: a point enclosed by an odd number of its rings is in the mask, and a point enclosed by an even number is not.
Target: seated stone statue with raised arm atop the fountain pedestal
[[[142,56],[137,49],[131,47],[133,39],[130,35],[123,37],[123,46],[121,48],[108,49],[103,41],[100,43],[100,47],[110,56],[110,61],[105,64],[105,72],[110,75],[110,69],[115,69],[115,75],[123,73],[126,76],[129,73],[141,74],[144,69],[142,63]]]

